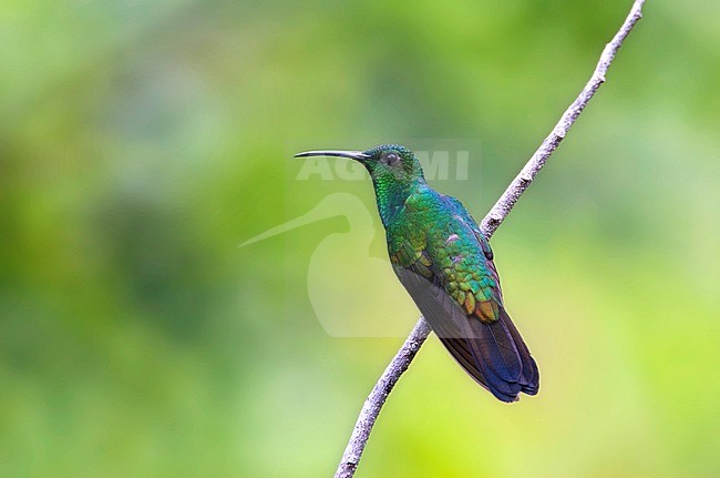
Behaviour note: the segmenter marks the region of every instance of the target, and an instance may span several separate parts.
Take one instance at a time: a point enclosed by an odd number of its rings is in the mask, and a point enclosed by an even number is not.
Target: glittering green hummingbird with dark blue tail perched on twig
[[[295,155],[309,156],[368,171],[392,268],[457,364],[502,401],[537,394],[537,365],[505,309],[487,238],[460,201],[428,185],[415,154],[384,144]]]

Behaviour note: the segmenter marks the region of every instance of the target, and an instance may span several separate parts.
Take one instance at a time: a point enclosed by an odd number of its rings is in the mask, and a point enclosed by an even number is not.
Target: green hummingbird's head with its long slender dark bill
[[[373,182],[410,184],[424,182],[415,154],[400,144],[382,144],[367,151],[307,151],[295,157],[340,156],[358,161],[368,170]]]

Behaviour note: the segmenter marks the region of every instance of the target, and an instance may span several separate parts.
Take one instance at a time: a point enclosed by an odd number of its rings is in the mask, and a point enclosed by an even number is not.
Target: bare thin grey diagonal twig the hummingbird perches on
[[[630,9],[630,13],[625,19],[625,22],[613,37],[613,40],[605,47],[600,55],[597,67],[590,77],[589,81],[580,94],[575,99],[573,104],[563,113],[563,116],[557,122],[551,134],[543,141],[541,146],[535,151],[527,164],[523,167],[520,174],[507,186],[507,190],[497,200],[493,209],[483,218],[480,228],[486,237],[491,237],[497,227],[505,220],[510,211],[513,209],[520,196],[531,185],[539,170],[545,165],[547,159],[557,149],[559,143],[565,138],[565,134],[570,129],[577,116],[580,115],[587,103],[590,101],[598,88],[605,82],[605,74],[607,69],[615,59],[618,49],[625,41],[632,27],[642,18],[642,4],[645,0],[636,0]],[[385,403],[388,395],[392,387],[398,383],[400,376],[408,369],[410,363],[415,354],[428,338],[431,329],[423,317],[420,317],[418,324],[410,333],[410,336],[402,345],[398,354],[392,358],[385,372],[372,388],[368,396],[360,416],[356,423],[352,436],[348,443],[348,447],[342,454],[342,459],[336,472],[336,478],[351,478],[358,468],[358,462],[362,451],[364,450],[372,426],[380,414],[380,409]]]

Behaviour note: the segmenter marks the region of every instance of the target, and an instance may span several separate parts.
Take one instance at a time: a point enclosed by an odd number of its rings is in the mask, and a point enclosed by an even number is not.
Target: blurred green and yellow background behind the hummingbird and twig
[[[436,185],[480,218],[630,3],[2,2],[0,476],[330,476],[402,339],[315,317],[342,217],[238,248],[332,192],[372,206],[289,157],[477,140]],[[497,403],[431,338],[358,477],[720,476],[720,8],[645,10],[493,238],[541,394]]]

